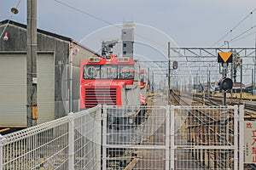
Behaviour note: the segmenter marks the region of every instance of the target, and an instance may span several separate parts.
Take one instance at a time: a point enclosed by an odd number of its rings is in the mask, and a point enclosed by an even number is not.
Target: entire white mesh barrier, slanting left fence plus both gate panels
[[[97,106],[0,135],[0,170],[241,170],[243,115],[243,106]]]

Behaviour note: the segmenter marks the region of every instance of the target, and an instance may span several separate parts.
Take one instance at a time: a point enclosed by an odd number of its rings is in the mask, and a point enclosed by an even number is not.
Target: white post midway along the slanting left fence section
[[[73,112],[68,114],[68,169],[74,169],[74,121],[73,121]]]

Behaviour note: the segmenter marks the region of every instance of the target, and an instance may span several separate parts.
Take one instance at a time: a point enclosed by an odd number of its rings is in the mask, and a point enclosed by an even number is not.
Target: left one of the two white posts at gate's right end
[[[238,169],[238,107],[234,106],[234,169]]]

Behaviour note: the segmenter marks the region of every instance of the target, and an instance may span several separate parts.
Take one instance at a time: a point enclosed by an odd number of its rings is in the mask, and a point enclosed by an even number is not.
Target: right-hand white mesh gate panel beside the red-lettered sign
[[[242,143],[238,145],[239,138],[243,139],[242,122],[238,133],[242,106],[239,112],[240,117],[237,106],[172,107],[170,167],[243,169]]]

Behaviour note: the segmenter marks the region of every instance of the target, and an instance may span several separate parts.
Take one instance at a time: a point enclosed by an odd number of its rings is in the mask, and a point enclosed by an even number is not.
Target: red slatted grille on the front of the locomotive
[[[115,88],[85,88],[85,108],[96,105],[116,105]]]

